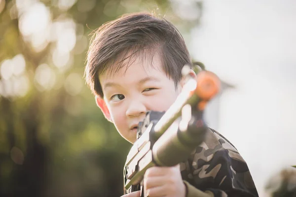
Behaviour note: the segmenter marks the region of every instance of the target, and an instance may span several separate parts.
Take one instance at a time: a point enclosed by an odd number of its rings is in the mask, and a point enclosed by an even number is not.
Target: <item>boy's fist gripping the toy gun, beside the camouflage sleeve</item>
[[[180,165],[148,168],[144,175],[144,188],[149,197],[185,197]]]

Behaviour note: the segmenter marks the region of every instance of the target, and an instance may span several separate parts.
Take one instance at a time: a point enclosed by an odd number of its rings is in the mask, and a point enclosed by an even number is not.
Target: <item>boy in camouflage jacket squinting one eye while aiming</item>
[[[97,30],[85,75],[107,120],[134,143],[146,111],[165,111],[180,94],[184,65],[192,64],[178,30],[164,19],[135,13]],[[149,168],[144,187],[149,197],[258,196],[245,161],[230,142],[210,129],[185,163]],[[140,197],[140,193],[127,196]]]

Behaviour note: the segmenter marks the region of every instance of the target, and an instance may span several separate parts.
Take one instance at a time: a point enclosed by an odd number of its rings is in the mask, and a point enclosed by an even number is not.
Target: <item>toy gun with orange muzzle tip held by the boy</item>
[[[202,143],[207,126],[203,111],[207,102],[220,90],[220,80],[209,71],[190,75],[184,66],[185,84],[182,92],[166,112],[148,111],[140,122],[137,140],[132,146],[124,166],[126,194],[141,191],[145,194],[143,177],[151,166],[174,166],[189,158]]]

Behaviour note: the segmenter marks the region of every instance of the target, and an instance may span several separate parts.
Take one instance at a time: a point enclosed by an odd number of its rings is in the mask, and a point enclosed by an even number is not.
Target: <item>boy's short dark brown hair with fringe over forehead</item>
[[[127,57],[127,54],[131,54]],[[104,97],[99,74],[115,73],[132,57],[161,58],[163,71],[177,86],[184,65],[191,66],[185,41],[174,25],[148,13],[133,13],[102,25],[92,36],[85,67],[86,83]],[[118,61],[121,59],[121,61]],[[119,63],[119,64],[118,64]]]

